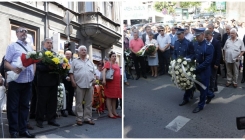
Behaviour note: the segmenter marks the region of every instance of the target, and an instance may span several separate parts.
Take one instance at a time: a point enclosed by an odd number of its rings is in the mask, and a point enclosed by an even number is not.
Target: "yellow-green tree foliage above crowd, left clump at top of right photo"
[[[173,14],[175,13],[175,5],[176,2],[170,2],[170,1],[165,1],[165,2],[156,2],[154,4],[154,8],[158,12],[162,12],[162,10],[165,8],[168,11],[168,14]]]

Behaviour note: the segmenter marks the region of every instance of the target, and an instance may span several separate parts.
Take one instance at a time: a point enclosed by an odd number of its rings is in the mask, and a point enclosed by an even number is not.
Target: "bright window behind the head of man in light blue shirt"
[[[19,25],[11,24],[11,38],[10,43],[16,42],[18,40],[16,36],[16,29],[19,27]],[[25,27],[28,30],[26,42],[32,46],[34,50],[37,50],[37,31],[34,29],[30,29]]]

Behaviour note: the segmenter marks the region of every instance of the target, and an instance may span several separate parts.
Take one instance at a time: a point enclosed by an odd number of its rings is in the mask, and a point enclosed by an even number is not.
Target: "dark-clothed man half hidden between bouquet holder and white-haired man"
[[[65,52],[66,59],[68,60],[69,64],[71,65],[72,62],[72,52],[70,50],[67,50]],[[68,114],[71,116],[76,116],[76,114],[72,110],[73,106],[73,97],[74,97],[74,88],[72,87],[71,80],[69,77],[69,72],[63,77],[62,79],[66,91],[66,110],[68,111]],[[63,110],[61,111],[62,115],[66,115]]]

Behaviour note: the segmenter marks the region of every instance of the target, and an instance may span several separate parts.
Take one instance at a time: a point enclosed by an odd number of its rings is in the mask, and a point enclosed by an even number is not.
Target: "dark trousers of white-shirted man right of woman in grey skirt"
[[[170,50],[161,52],[158,50],[159,68],[161,69],[160,74],[168,73],[168,67],[170,64]]]

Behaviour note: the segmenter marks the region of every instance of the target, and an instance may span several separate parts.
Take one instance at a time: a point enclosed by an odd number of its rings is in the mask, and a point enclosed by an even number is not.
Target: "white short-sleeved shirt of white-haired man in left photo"
[[[94,64],[89,59],[74,59],[69,73],[72,73],[74,80],[80,88],[90,88],[95,78]]]

